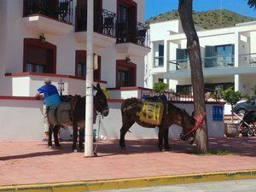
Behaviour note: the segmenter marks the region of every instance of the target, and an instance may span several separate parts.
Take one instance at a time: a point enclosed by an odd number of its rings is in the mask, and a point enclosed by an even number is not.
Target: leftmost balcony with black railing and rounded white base
[[[73,0],[24,0],[23,22],[28,29],[64,35],[73,29]]]

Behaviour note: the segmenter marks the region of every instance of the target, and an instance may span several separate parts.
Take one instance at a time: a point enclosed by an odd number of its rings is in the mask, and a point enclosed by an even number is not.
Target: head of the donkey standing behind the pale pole
[[[94,86],[94,90],[96,90],[94,107],[96,108],[97,112],[102,113],[102,115],[106,117],[109,113],[107,96],[105,96],[104,92],[102,91],[100,84],[96,84],[96,86]]]

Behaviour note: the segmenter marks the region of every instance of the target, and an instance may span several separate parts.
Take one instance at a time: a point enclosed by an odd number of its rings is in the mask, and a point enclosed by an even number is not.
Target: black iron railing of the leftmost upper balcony
[[[72,23],[73,0],[24,0],[23,16],[36,14]]]

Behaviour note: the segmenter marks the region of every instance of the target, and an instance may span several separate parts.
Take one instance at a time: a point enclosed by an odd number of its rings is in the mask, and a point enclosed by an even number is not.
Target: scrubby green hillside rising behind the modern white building
[[[147,23],[155,23],[166,20],[178,19],[179,15],[177,10],[172,10],[164,14],[152,17],[147,20]],[[235,26],[237,23],[249,22],[256,20],[253,17],[236,14],[235,12],[216,9],[211,11],[193,12],[193,19],[196,26],[201,26],[206,29],[222,28],[228,26]]]

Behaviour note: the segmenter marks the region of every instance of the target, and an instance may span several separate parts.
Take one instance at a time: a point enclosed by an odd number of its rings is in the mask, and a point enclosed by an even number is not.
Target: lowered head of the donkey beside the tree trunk
[[[183,132],[179,137],[183,141],[189,141],[189,144],[193,144],[195,141],[195,131],[191,131],[195,127],[193,114],[190,116],[185,109],[180,109],[177,114],[177,125],[183,127]]]

